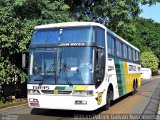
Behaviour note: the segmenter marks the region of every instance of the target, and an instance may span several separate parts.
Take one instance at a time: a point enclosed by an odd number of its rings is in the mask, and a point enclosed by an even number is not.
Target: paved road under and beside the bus
[[[15,120],[70,120],[95,117],[96,119],[109,119],[115,114],[156,114],[160,100],[160,79],[144,80],[138,92],[114,101],[108,111],[101,108],[93,112],[65,111],[65,110],[37,110],[27,105],[14,108],[1,109],[1,118],[15,118]],[[140,115],[140,117],[142,117]],[[117,116],[112,116],[116,119]],[[125,117],[125,116],[124,116]],[[126,116],[127,117],[127,116]],[[119,119],[119,118],[117,118]],[[137,116],[139,119],[139,116]],[[160,119],[160,118],[159,118]],[[3,119],[6,120],[6,119]]]

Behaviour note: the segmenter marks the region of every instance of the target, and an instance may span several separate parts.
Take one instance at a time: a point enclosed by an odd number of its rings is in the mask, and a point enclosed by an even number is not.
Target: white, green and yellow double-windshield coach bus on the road
[[[100,23],[36,26],[29,45],[29,107],[108,110],[141,85],[139,56],[138,48]]]

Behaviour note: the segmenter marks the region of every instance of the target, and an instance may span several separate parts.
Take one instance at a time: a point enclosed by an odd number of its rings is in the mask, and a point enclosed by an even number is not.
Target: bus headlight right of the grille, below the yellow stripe
[[[77,95],[77,96],[92,96],[93,95],[93,90],[75,90],[75,91],[73,91],[72,95]]]

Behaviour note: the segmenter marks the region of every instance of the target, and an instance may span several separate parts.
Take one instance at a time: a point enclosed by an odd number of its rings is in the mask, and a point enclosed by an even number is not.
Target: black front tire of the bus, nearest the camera
[[[107,97],[106,97],[106,105],[104,106],[104,110],[109,110],[113,98],[113,91],[108,89]]]

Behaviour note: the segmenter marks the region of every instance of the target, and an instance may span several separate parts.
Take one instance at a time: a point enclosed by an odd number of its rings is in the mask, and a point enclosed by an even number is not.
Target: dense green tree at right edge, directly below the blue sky
[[[160,24],[151,19],[135,20],[136,31],[128,34],[128,40],[142,52],[153,51],[160,60]]]

